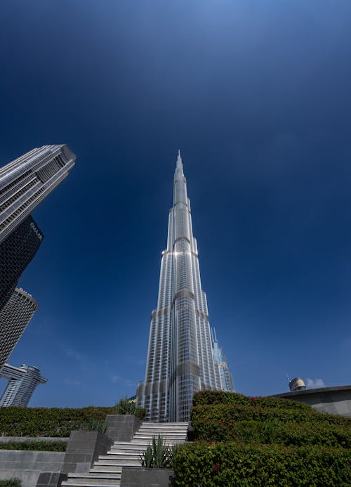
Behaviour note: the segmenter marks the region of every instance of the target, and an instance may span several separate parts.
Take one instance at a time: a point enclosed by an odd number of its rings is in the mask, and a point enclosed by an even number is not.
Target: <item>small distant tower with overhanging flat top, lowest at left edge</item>
[[[39,368],[25,363],[20,367],[6,363],[0,375],[9,379],[0,399],[0,408],[11,405],[26,408],[37,385],[48,382],[48,379],[41,377]]]

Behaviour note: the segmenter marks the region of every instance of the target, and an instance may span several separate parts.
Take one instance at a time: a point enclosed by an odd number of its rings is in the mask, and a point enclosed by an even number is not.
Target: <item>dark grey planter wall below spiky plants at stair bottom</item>
[[[123,467],[121,487],[171,487],[174,476],[170,469]]]

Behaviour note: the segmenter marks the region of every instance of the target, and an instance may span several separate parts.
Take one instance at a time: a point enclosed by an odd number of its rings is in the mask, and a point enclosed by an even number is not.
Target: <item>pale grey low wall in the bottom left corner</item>
[[[37,487],[41,472],[60,472],[64,452],[0,450],[0,479],[22,480],[23,487]]]

